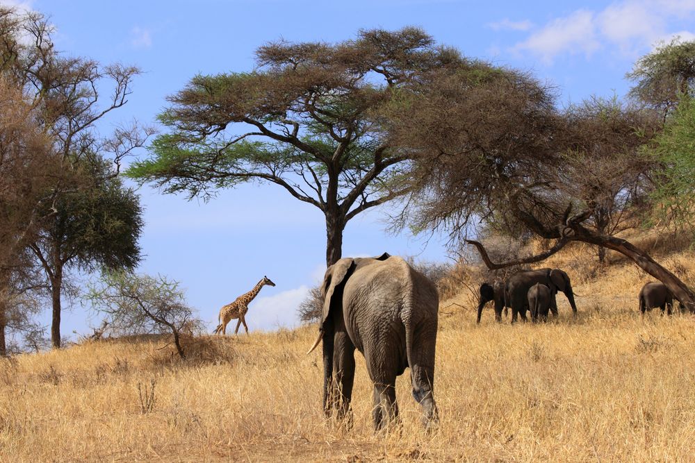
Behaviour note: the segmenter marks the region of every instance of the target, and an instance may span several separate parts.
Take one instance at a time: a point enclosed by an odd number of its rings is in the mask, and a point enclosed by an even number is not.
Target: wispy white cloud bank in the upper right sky
[[[693,33],[676,33],[669,28],[677,28],[676,22],[692,17],[694,12],[695,0],[626,0],[610,3],[603,10],[575,10],[532,31],[512,51],[539,56],[546,64],[563,54],[591,56],[609,47],[635,56],[674,35],[689,40]]]

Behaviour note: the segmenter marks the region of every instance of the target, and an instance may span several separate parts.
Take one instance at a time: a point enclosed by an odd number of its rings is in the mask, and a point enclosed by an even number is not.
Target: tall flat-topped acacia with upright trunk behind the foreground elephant
[[[331,265],[348,221],[408,191],[391,186],[408,156],[384,137],[379,108],[460,61],[417,28],[266,44],[254,71],[195,76],[170,96],[159,116],[170,133],[127,174],[189,199],[254,180],[279,185],[325,215]]]

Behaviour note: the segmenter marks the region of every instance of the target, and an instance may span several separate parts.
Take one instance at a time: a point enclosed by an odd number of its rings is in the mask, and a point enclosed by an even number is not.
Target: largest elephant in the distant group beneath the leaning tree
[[[528,310],[528,290],[536,283],[541,283],[550,288],[553,294],[553,303],[550,311],[557,316],[557,303],[555,294],[563,292],[572,307],[572,312],[577,314],[577,305],[574,302],[574,292],[567,273],[560,269],[539,269],[520,271],[507,280],[505,288],[505,301],[512,308],[512,323],[516,321],[517,314],[526,320]]]

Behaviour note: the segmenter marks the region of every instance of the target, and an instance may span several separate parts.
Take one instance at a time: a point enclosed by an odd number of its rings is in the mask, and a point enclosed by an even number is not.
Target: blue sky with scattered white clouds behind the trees
[[[695,0],[0,3],[49,15],[61,51],[142,69],[129,103],[108,124],[133,118],[155,124],[165,97],[192,76],[249,71],[256,47],[280,38],[337,42],[359,28],[420,26],[466,56],[532,71],[557,85],[562,103],[591,94],[623,95],[630,85],[623,76],[658,40],[695,39]],[[179,280],[211,328],[222,305],[268,275],[277,286],[265,287],[251,304],[249,327],[296,323],[298,303],[325,269],[325,224],[318,209],[272,185],[244,185],[208,203],[147,187],[140,195],[147,226],[139,271]],[[407,233],[387,235],[385,212],[374,210],[348,224],[343,255],[388,251],[448,259],[437,237],[426,243]],[[98,324],[88,317],[76,304],[64,315],[63,332],[87,332],[87,323]]]

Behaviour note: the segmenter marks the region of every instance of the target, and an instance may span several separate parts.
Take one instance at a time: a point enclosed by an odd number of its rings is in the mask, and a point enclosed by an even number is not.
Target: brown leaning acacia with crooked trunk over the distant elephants
[[[418,228],[448,230],[453,239],[475,245],[489,269],[540,262],[572,241],[605,246],[661,280],[695,311],[687,285],[637,246],[599,233],[589,220],[591,199],[578,201],[563,191],[571,181],[563,159],[572,137],[563,131],[566,122],[548,89],[507,70],[475,80],[450,74],[415,90],[391,109],[391,130],[416,159],[414,207],[405,213]],[[401,110],[403,105],[417,114]],[[533,233],[552,246],[529,258],[492,262],[480,242],[466,239],[477,217],[495,217],[515,233]]]

